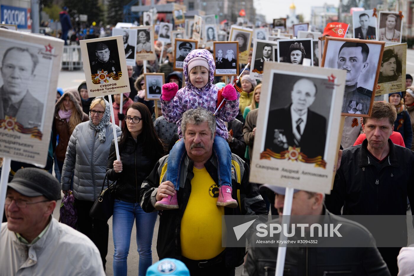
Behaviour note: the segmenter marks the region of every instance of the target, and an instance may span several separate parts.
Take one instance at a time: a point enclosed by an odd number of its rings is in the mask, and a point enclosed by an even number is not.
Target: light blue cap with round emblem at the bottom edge
[[[157,261],[147,269],[146,276],[190,276],[190,271],[182,261],[165,258]]]

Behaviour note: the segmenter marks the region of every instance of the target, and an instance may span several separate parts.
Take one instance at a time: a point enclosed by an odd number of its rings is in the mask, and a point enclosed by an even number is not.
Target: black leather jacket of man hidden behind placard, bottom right
[[[375,240],[366,228],[324,210],[325,222],[340,221],[370,247],[287,247],[284,276],[389,276]],[[250,243],[252,245],[252,243]],[[277,245],[275,245],[277,246]],[[242,276],[274,275],[278,247],[249,247]]]

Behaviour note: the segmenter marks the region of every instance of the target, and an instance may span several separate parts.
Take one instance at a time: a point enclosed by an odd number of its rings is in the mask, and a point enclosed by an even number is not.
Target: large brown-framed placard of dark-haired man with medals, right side
[[[368,117],[385,42],[327,36],[321,67],[347,70],[342,115]]]

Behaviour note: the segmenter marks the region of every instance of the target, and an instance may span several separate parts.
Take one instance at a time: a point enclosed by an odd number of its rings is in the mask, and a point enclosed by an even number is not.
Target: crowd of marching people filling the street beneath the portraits
[[[44,168],[11,165],[0,276],[104,275],[108,220],[89,212],[106,179],[116,183],[114,275],[127,274],[134,221],[139,276],[176,270],[176,275],[231,276],[241,265],[242,275],[274,274],[277,247],[250,243],[246,251],[221,244],[221,215],[283,214],[284,188],[249,182],[262,84],[249,68],[236,88],[228,78],[215,77],[211,49],[191,51],[183,72],[173,71],[173,48],[165,44],[161,50],[163,45],[156,42],[157,59],[147,61],[146,72],[143,61],[128,66],[131,91],[109,96],[113,106],[105,97],[90,98],[86,82],[77,90],[58,89],[50,162]],[[155,72],[166,76],[156,102],[145,97],[143,75]],[[406,215],[414,202],[412,79],[407,74],[406,90],[389,94],[388,102],[374,102],[372,115],[361,118],[361,129],[353,129],[351,138],[345,131],[330,195],[294,193],[292,215],[341,220],[369,246],[289,247],[285,271],[291,275],[414,274],[412,248],[377,248],[366,228],[339,217]],[[225,99],[221,108],[219,93]],[[74,197],[76,230],[51,216],[61,193]],[[152,264],[158,215],[161,261]],[[392,235],[407,242],[406,231]]]

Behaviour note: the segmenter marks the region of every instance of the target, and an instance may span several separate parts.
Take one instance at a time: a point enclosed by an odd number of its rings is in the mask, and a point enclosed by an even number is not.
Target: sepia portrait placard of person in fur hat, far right
[[[401,92],[405,87],[407,43],[385,46],[375,96]]]

